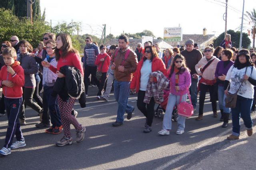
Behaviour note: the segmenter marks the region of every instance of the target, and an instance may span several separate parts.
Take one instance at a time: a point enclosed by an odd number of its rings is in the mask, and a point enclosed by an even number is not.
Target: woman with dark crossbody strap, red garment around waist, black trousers
[[[216,77],[214,75],[216,66],[220,61],[216,56],[213,56],[213,48],[206,47],[204,49],[204,58],[202,58],[198,64],[196,64],[196,72],[201,76],[200,81],[198,82],[198,90],[200,90],[199,96],[199,115],[196,120],[203,119],[204,111],[204,100],[206,92],[210,92],[210,101],[212,102],[212,111],[214,118],[218,117],[217,114],[217,92],[218,86],[216,84]]]

